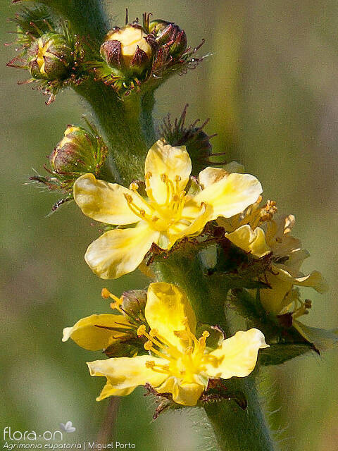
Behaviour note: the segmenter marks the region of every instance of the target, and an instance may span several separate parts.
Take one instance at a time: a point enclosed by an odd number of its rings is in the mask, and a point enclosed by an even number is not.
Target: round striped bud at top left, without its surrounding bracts
[[[27,50],[27,64],[33,78],[66,78],[73,63],[72,49],[63,35],[50,32],[36,39]]]

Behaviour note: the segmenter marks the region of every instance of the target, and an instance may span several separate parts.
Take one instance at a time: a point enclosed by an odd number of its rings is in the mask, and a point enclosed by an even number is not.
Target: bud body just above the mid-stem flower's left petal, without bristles
[[[82,127],[69,125],[63,140],[49,156],[53,173],[78,177],[83,173],[97,173],[104,163],[106,146],[101,138]]]

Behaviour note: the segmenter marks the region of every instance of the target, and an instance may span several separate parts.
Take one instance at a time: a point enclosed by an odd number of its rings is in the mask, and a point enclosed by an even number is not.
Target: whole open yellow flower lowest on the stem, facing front
[[[158,393],[171,393],[178,404],[194,406],[208,385],[208,378],[245,377],[253,371],[258,350],[266,345],[258,329],[237,332],[215,350],[206,347],[208,332],[196,338],[196,318],[184,292],[169,283],[149,285],[146,321],[139,335],[148,341],[149,355],[89,362],[92,376],[106,376],[97,400],[127,395],[138,385],[150,383]],[[123,391],[125,390],[125,391]]]

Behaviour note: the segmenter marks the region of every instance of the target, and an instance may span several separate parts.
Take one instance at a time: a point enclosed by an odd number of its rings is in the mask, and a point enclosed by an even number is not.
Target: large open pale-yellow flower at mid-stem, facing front
[[[184,146],[171,147],[159,140],[145,162],[147,198],[116,183],[96,180],[88,173],[74,184],[74,199],[89,218],[103,223],[130,226],[109,230],[89,245],[85,254],[92,271],[104,279],[118,278],[134,271],[152,243],[163,249],[185,236],[201,233],[208,221],[229,218],[256,202],[261,183],[249,174],[201,171],[204,187],[196,195],[184,188],[189,182],[192,162]],[[202,182],[203,181],[203,182]]]

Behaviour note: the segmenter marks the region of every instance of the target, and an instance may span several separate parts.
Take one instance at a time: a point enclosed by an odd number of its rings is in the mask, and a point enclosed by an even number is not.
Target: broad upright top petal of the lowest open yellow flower
[[[146,321],[151,329],[175,347],[182,347],[175,330],[185,330],[186,322],[192,333],[196,330],[196,316],[185,292],[172,283],[151,283],[148,288]]]

